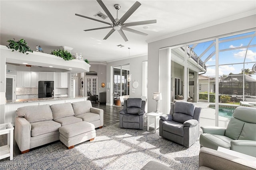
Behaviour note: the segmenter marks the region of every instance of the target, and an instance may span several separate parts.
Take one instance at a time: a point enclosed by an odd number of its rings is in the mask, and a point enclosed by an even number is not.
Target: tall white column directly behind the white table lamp
[[[159,111],[163,114],[170,113],[171,107],[171,49],[170,47],[159,50],[159,92],[162,100],[159,101]]]

